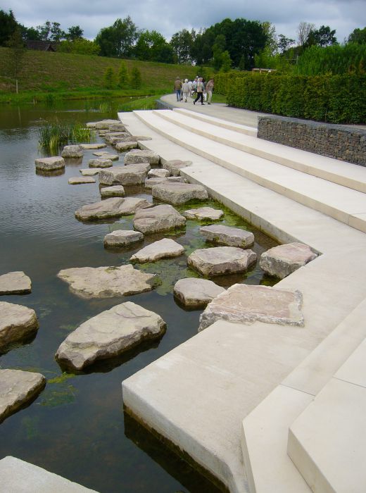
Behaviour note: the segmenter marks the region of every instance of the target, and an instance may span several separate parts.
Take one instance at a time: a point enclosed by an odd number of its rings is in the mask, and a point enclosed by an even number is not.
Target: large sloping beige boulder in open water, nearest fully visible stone
[[[157,313],[127,301],[77,327],[56,352],[56,359],[75,370],[113,358],[146,339],[156,339],[166,324]]]

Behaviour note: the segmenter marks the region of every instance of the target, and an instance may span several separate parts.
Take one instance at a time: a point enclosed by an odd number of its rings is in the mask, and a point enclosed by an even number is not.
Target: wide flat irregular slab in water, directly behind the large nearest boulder
[[[113,298],[151,291],[158,282],[155,274],[142,273],[130,263],[120,267],[75,267],[57,275],[82,298]]]

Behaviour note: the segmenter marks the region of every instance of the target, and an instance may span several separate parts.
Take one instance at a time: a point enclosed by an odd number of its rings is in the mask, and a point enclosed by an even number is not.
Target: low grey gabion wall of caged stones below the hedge
[[[258,138],[366,166],[366,130],[283,116],[259,116]]]

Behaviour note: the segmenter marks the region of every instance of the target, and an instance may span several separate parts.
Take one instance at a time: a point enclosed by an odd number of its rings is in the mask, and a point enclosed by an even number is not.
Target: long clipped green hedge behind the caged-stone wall
[[[366,75],[218,74],[227,104],[329,123],[366,123]]]

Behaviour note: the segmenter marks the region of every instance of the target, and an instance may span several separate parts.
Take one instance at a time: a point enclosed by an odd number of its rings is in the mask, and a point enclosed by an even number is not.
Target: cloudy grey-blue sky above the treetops
[[[27,27],[58,22],[67,31],[80,25],[84,37],[94,39],[101,27],[130,15],[140,29],[157,30],[168,40],[177,31],[209,27],[225,18],[269,20],[277,35],[297,39],[301,22],[316,27],[329,25],[339,42],[355,29],[366,26],[366,0],[0,0],[0,8],[12,10],[16,20]]]

